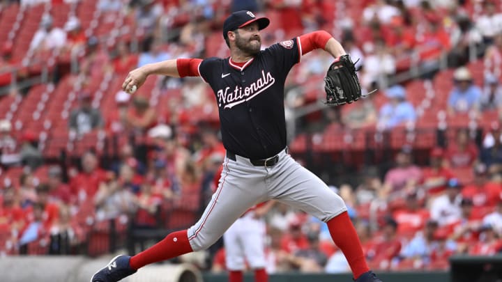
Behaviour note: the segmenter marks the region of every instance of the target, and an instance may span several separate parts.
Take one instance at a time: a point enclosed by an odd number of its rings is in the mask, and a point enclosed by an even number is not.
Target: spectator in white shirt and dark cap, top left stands
[[[61,49],[66,44],[66,32],[53,25],[52,16],[45,13],[40,26],[31,40],[29,52]]]

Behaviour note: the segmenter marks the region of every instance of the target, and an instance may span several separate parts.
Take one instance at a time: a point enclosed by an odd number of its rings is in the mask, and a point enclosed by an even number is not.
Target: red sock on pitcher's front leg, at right
[[[347,262],[349,262],[354,279],[368,272],[370,268],[366,264],[363,247],[360,244],[356,228],[353,227],[349,214],[342,212],[333,217],[333,219],[330,219],[327,224],[333,242],[342,250],[345,258],[347,258]]]

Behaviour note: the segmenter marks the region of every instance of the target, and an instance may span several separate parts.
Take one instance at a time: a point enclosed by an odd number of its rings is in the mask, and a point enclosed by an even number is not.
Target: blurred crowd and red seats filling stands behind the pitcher
[[[271,18],[264,47],[326,29],[358,59],[363,91],[378,89],[295,120],[324,96],[331,62],[308,54],[287,82],[291,143],[314,132],[309,150],[317,150],[333,145],[319,132],[344,146],[347,130],[393,132],[433,116],[434,132],[457,122],[446,142],[420,151],[426,162],[405,141],[384,157],[390,168],[359,164],[362,176],[330,181],[373,269],[446,269],[453,254],[502,251],[501,1],[7,0],[0,25],[14,25],[5,36],[0,26],[0,256],[99,255],[112,244],[129,248],[134,230],[195,223],[225,157],[211,89],[199,78],[151,77],[130,96],[120,85],[147,63],[227,56],[222,21],[242,9]],[[40,75],[43,86],[20,86]],[[268,272],[349,272],[319,220],[280,204],[266,222]],[[199,266],[222,271],[224,251],[215,245]]]

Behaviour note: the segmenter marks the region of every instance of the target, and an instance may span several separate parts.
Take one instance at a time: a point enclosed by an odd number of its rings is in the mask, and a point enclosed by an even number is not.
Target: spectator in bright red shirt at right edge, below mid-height
[[[487,166],[477,164],[473,168],[474,181],[462,188],[462,197],[471,198],[475,207],[493,206],[499,203],[502,185],[498,181],[489,180]]]

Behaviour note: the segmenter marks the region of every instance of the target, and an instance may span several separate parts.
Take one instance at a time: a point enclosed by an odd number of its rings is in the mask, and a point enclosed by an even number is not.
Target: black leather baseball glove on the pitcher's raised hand
[[[357,63],[357,61],[356,61]],[[343,55],[332,63],[324,77],[326,102],[330,106],[352,103],[361,97],[361,88],[356,67],[350,56]]]

